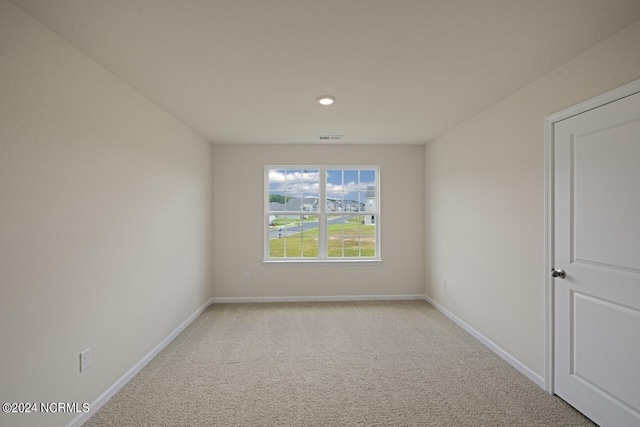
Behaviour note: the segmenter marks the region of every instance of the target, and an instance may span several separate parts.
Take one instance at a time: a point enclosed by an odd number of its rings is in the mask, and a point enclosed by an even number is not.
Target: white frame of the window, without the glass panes
[[[320,209],[314,211],[314,215],[318,215],[318,257],[317,258],[270,258],[269,257],[269,216],[274,212],[269,211],[269,170],[318,170],[320,173],[320,191],[318,198],[320,201]],[[375,256],[373,257],[328,257],[327,254],[327,216],[335,215],[335,212],[327,212],[326,204],[326,185],[327,170],[373,170],[375,171],[376,200],[374,212],[357,212],[357,215],[374,215],[375,216]],[[380,213],[380,166],[379,165],[266,165],[264,167],[264,215],[262,219],[264,229],[264,264],[379,264],[382,262],[381,255],[381,213]],[[298,211],[282,211],[276,214],[301,215]]]

